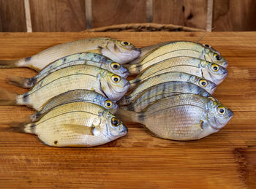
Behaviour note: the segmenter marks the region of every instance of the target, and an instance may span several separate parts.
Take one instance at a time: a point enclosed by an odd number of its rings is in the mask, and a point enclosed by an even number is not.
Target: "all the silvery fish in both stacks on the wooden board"
[[[10,127],[50,146],[105,144],[127,134],[122,120],[141,123],[163,139],[194,140],[233,117],[211,96],[227,77],[227,61],[209,45],[163,42],[138,49],[108,37],[81,39],[0,61],[1,69],[15,67],[39,73],[10,76],[10,84],[29,91],[0,89],[0,104],[37,112]],[[128,75],[137,77],[128,81]]]

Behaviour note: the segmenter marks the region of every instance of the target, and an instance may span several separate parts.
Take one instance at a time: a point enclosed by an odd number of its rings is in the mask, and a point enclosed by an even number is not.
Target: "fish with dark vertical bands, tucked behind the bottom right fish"
[[[129,102],[129,104],[121,99],[118,101],[118,105],[120,109],[142,112],[143,109],[146,109],[146,107],[153,104],[155,101],[167,99],[169,97],[172,98],[172,96],[181,93],[197,94],[204,97],[211,96],[211,94],[203,88],[189,82],[162,82],[139,93],[139,95],[133,99],[133,101]],[[211,97],[214,98],[213,96]],[[217,101],[217,99],[214,100]]]

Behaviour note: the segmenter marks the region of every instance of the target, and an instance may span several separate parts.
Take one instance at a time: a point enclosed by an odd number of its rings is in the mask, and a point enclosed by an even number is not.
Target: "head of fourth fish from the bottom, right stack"
[[[201,65],[204,67],[202,69],[203,77],[206,80],[211,80],[215,84],[219,85],[227,77],[227,69],[223,66],[219,66],[216,63],[211,63],[208,61],[201,61]]]

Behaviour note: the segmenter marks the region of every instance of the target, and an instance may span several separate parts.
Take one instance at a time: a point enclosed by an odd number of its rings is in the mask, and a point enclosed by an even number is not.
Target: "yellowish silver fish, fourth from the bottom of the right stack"
[[[227,69],[216,63],[210,63],[198,58],[178,57],[169,58],[148,67],[141,72],[134,80],[129,80],[130,87],[138,85],[150,77],[167,72],[184,72],[214,82],[219,85],[227,77]]]

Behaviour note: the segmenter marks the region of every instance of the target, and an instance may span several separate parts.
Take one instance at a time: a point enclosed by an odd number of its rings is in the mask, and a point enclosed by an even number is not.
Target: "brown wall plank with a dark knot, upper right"
[[[154,0],[153,22],[206,29],[207,1]]]

